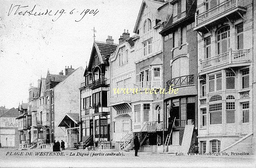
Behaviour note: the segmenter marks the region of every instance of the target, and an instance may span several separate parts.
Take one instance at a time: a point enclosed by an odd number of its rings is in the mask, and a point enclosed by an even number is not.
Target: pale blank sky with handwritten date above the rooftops
[[[1,0],[0,106],[27,103],[47,70],[86,67],[95,40],[132,36],[142,0]],[[39,15],[38,15],[39,14]]]

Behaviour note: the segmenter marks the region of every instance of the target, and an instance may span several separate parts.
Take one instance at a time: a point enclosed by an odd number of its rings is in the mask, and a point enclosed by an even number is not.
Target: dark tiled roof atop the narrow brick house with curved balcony
[[[171,32],[173,29],[176,29],[178,26],[180,26],[181,23],[188,23],[186,21],[193,22],[195,20],[195,11],[197,7],[196,5],[196,0],[194,0],[188,12],[186,13],[186,17],[183,17],[175,23],[173,23],[173,16],[171,16],[166,25],[163,27],[163,30],[160,31],[160,34]]]

